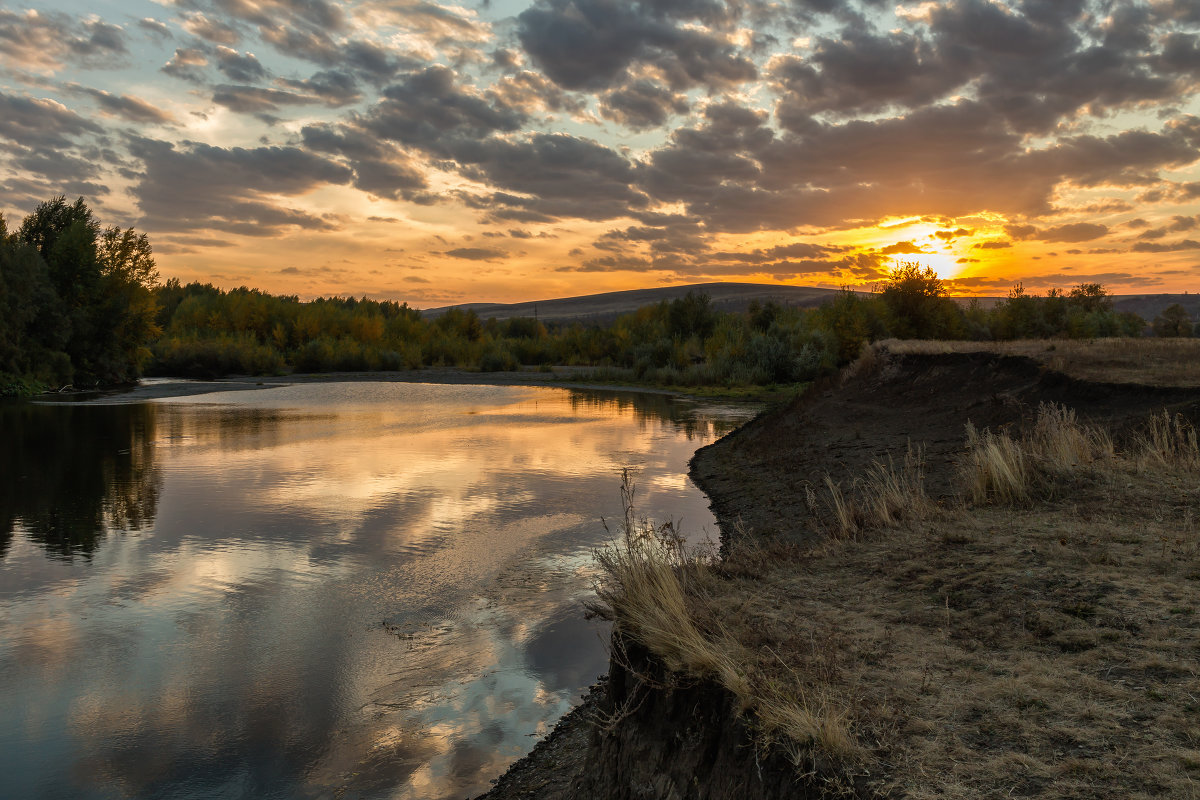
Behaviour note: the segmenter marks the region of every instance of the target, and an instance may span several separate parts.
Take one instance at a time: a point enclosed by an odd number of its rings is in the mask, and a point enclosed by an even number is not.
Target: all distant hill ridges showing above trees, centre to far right
[[[683,297],[689,291],[707,294],[713,306],[720,311],[745,311],[751,301],[774,301],[781,306],[811,308],[820,306],[840,291],[839,289],[818,289],[815,287],[790,287],[773,283],[690,283],[682,287],[660,287],[656,289],[630,289],[628,291],[606,291],[604,294],[581,295],[578,297],[557,297],[554,300],[534,300],[528,302],[469,302],[458,306],[427,308],[421,314],[430,319],[440,317],[451,308],[474,309],[484,319],[510,319],[512,317],[536,317],[547,321],[607,323],[620,314],[636,311],[642,306]],[[868,293],[859,293],[868,294]],[[955,297],[962,303],[968,297]],[[996,305],[1003,297],[978,297],[985,308]],[[1164,308],[1171,303],[1182,305],[1193,319],[1200,319],[1200,294],[1138,294],[1114,295],[1117,311],[1132,311],[1140,314],[1147,323],[1153,321]]]

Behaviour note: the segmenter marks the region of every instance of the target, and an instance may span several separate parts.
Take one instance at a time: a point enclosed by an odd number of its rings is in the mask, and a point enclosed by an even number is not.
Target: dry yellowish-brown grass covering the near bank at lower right
[[[707,613],[748,674],[774,675],[760,708],[779,703],[776,732],[800,686],[839,698],[809,718],[836,710],[881,795],[1200,796],[1194,431],[1160,415],[1112,453],[1062,408],[1042,420],[976,441],[1007,441],[1034,475],[1087,473],[1066,499],[730,557]]]

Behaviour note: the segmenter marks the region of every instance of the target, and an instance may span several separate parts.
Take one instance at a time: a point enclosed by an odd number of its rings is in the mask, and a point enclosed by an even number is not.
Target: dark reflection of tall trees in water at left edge
[[[0,558],[19,530],[52,558],[90,558],[109,531],[154,524],[157,409],[0,404]]]

